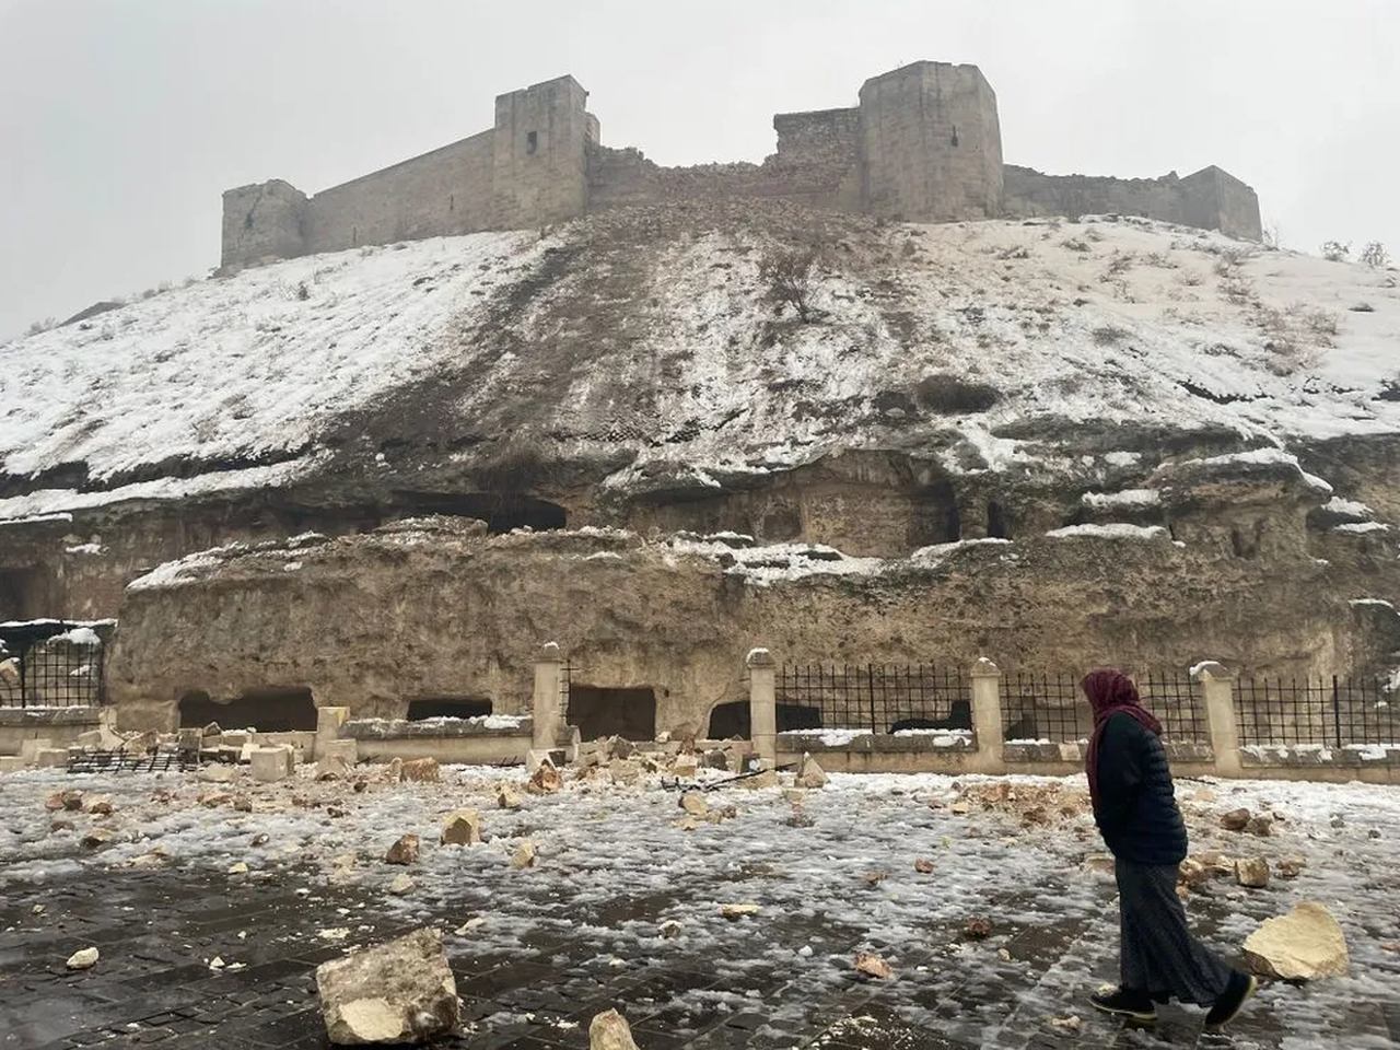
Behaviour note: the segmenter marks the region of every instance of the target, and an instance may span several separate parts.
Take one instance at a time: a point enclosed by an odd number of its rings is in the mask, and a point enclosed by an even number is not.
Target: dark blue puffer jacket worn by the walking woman
[[[1103,727],[1093,819],[1120,860],[1170,865],[1186,858],[1186,823],[1176,808],[1166,750],[1133,715],[1116,714]]]

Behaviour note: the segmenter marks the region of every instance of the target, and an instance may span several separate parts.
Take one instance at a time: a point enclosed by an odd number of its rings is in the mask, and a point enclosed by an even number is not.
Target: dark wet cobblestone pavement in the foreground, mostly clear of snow
[[[608,833],[601,826],[599,837]],[[813,855],[822,848],[820,841],[812,843]],[[735,883],[752,886],[774,872],[762,862],[715,864],[710,876],[713,896],[720,897]],[[1392,892],[1394,875],[1386,879],[1375,885]],[[1303,1032],[1298,1025],[1310,1015],[1288,1014],[1280,991],[1292,993],[1280,986],[1229,1036],[1203,1035],[1198,1011],[1166,1008],[1154,1032],[1092,1014],[1084,997],[1098,983],[1112,981],[1116,970],[1116,909],[1107,882],[1092,890],[1102,910],[1070,909],[1067,916],[1047,913],[1043,904],[1029,907],[1029,890],[993,892],[983,910],[995,917],[997,937],[986,944],[960,942],[960,918],[942,916],[928,918],[921,944],[904,937],[883,945],[879,930],[851,928],[847,920],[818,909],[722,924],[707,928],[703,945],[692,941],[685,951],[658,948],[629,958],[599,951],[609,931],[636,930],[675,914],[694,897],[694,885],[686,899],[626,879],[617,881],[610,899],[571,897],[571,879],[563,874],[515,885],[532,900],[512,902],[498,888],[486,889],[463,875],[428,903],[403,907],[402,902],[391,906],[372,886],[326,885],[309,865],[270,869],[259,878],[181,864],[157,871],[87,867],[46,883],[11,882],[0,900],[0,1050],[323,1047],[314,981],[319,962],[343,952],[346,944],[384,941],[424,923],[462,928],[473,916],[510,913],[515,906],[521,918],[510,948],[497,941],[477,951],[469,932],[448,938],[468,1023],[461,1036],[440,1046],[587,1047],[588,1021],[609,1007],[629,1018],[643,1050],[1292,1050],[1323,1044],[1316,1042],[1320,1035],[1336,1047],[1400,1046],[1400,994],[1352,1002],[1343,1022],[1329,1016]],[[930,893],[937,893],[937,882]],[[1394,899],[1392,893],[1389,902]],[[571,921],[531,918],[543,902],[563,907]],[[1231,911],[1225,897],[1197,902],[1193,924],[1210,938]],[[1221,935],[1219,942],[1231,938]],[[833,966],[832,977],[813,993],[812,981],[794,980],[771,951],[788,945],[816,958],[848,958],[854,944],[897,958],[896,980],[869,983]],[[69,973],[67,956],[90,945],[101,951],[101,962]],[[237,969],[211,969],[216,956],[237,960]],[[742,984],[720,976],[718,963],[727,958],[755,960],[743,970]],[[1386,980],[1392,991],[1400,983],[1400,958],[1393,972],[1368,987],[1386,987]],[[1054,1029],[1047,1002],[1058,1007],[1061,1018],[1077,1014],[1082,1026]]]

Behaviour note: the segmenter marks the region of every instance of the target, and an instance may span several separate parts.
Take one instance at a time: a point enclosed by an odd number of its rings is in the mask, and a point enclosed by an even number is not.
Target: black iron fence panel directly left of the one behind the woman
[[[785,664],[778,711],[802,728],[972,729],[972,689],[960,669],[934,664]]]

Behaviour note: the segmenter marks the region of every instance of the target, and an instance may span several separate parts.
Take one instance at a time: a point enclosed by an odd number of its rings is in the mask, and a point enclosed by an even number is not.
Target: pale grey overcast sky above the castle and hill
[[[0,339],[204,274],[220,193],[312,193],[571,73],[609,146],[762,160],[771,115],[917,59],[997,92],[1005,158],[1218,164],[1285,245],[1400,255],[1393,0],[0,0]]]

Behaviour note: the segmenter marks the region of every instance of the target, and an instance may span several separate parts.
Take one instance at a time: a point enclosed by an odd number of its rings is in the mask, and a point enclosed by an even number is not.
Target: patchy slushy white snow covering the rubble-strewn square
[[[305,872],[312,896],[329,883],[356,885],[391,913],[455,930],[449,951],[539,955],[547,963],[553,949],[528,945],[532,934],[554,931],[582,938],[599,960],[623,967],[703,958],[721,980],[718,993],[706,994],[734,1009],[750,1002],[745,990],[756,974],[774,969],[791,979],[784,1004],[820,1007],[851,988],[853,955],[869,949],[895,967],[882,994],[906,1022],[956,1028],[980,1044],[1001,1044],[998,1033],[1028,1032],[1050,1016],[1084,1014],[1082,997],[1114,976],[1112,882],[1082,867],[1085,854],[1102,847],[1081,777],[833,776],[798,811],[778,790],[732,787],[707,799],[734,805],[736,815],[696,830],[678,826],[678,795],[654,781],[571,781],[559,795],[526,797],[519,812],[496,809],[494,785],[519,777],[452,769],[442,784],[371,783],[357,794],[311,781],[309,769],[294,783],[232,788],[175,774],[10,774],[0,781],[0,885],[69,883],[137,857],[153,862],[160,847],[169,864],[216,878],[242,862],[248,875],[230,878]],[[45,797],[67,787],[108,794],[115,815],[46,812]],[[253,812],[237,812],[227,801],[196,804],[200,792],[230,790],[246,795]],[[994,802],[1008,790],[1022,797],[1021,809]],[[153,801],[157,791],[171,799]],[[1400,790],[1219,781],[1182,783],[1177,794],[1193,850],[1308,861],[1296,879],[1275,878],[1267,890],[1219,879],[1193,895],[1189,913],[1207,939],[1233,952],[1260,920],[1299,900],[1326,903],[1347,934],[1350,976],[1263,988],[1252,1011],[1287,1033],[1267,1044],[1358,1044],[1337,1042],[1354,1032],[1348,1025],[1358,1004],[1397,1001]],[[970,812],[960,815],[955,801],[970,804]],[[1050,815],[1023,819],[1030,802]],[[344,813],[330,815],[330,805]],[[461,805],[482,809],[489,841],[437,846],[441,816]],[[1275,833],[1257,839],[1219,830],[1217,815],[1236,806],[1277,813]],[[49,833],[53,816],[73,819],[76,832]],[[76,839],[90,825],[112,827],[119,840],[98,853],[83,850]],[[388,883],[405,868],[381,858],[405,832],[421,836],[423,857],[407,869],[414,888],[395,897]],[[253,846],[258,834],[267,839]],[[510,857],[524,837],[536,844],[539,861],[517,871]],[[914,869],[917,858],[932,861],[931,875]],[[753,903],[759,911],[729,923],[720,916],[729,903]],[[987,941],[960,937],[974,916],[991,921]],[[664,937],[662,924],[672,920],[679,928]],[[356,931],[323,937],[349,945]],[[223,958],[237,963],[237,942]],[[1009,1007],[994,994],[1007,981],[1025,984]],[[969,1002],[966,990],[977,987],[984,994]],[[675,1005],[699,1009],[699,997],[683,993]]]

